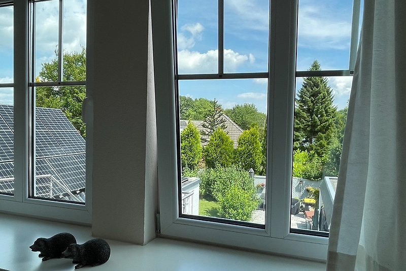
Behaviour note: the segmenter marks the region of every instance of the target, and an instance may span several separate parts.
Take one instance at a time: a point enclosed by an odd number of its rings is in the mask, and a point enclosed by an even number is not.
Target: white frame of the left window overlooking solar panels
[[[59,0],[62,5],[63,0]],[[10,2],[10,1],[7,1]],[[69,221],[81,224],[91,224],[91,162],[92,162],[92,93],[89,88],[86,89],[86,103],[83,107],[83,115],[86,122],[86,202],[85,204],[76,204],[72,202],[60,202],[43,200],[38,198],[29,198],[29,179],[33,176],[33,167],[30,165],[33,161],[33,142],[30,142],[29,106],[33,109],[32,89],[35,86],[43,86],[43,83],[36,83],[30,76],[30,1],[14,1],[14,195],[0,195],[0,212],[13,213],[19,215],[48,218],[59,221]],[[60,10],[60,15],[61,15]],[[88,12],[87,21],[89,18]],[[61,46],[61,20],[59,22],[59,46]],[[87,39],[87,46],[91,39]],[[60,47],[59,47],[60,48]],[[61,50],[60,50],[61,51]],[[61,62],[59,62],[61,63]],[[59,75],[59,78],[61,76]],[[52,83],[51,83],[52,84]],[[83,85],[86,82],[54,82],[55,85]],[[31,112],[32,113],[32,112]],[[33,119],[32,119],[33,121]]]

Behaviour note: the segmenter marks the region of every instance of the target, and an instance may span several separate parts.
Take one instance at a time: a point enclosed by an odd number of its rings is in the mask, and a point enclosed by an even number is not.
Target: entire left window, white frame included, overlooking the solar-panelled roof
[[[8,34],[0,57],[9,59],[0,65],[0,140],[11,153],[0,161],[1,208],[89,223],[86,1],[11,2],[0,6],[0,18],[2,36]],[[3,191],[5,182],[12,190]]]

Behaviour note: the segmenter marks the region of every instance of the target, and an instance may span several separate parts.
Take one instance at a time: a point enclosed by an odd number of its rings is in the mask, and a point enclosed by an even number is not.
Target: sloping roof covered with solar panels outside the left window
[[[0,104],[0,192],[14,188],[14,106]],[[36,108],[35,196],[83,201],[85,152],[83,137],[60,109]]]

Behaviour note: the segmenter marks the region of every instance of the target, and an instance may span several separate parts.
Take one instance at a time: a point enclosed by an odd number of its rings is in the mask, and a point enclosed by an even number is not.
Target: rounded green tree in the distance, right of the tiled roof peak
[[[253,124],[259,129],[265,127],[266,115],[259,112],[254,104],[234,105],[232,109],[225,109],[224,113],[243,130],[248,130]]]

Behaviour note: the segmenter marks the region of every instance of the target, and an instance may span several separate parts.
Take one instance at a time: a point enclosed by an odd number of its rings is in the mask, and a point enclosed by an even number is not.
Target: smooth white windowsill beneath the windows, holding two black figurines
[[[45,262],[28,248],[38,237],[71,232],[79,244],[93,238],[90,227],[0,214],[0,270],[74,270],[70,259]],[[179,240],[155,238],[145,246],[108,240],[111,256],[91,270],[325,270],[325,264],[233,250]],[[89,267],[83,267],[87,269]]]

